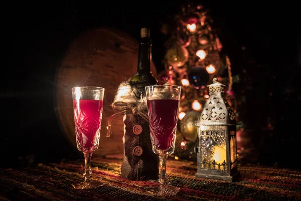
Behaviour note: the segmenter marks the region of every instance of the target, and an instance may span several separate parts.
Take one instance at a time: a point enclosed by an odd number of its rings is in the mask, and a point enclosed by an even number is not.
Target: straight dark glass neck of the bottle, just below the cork
[[[152,43],[149,37],[141,38],[138,56],[138,73],[150,73],[150,59],[152,56]]]

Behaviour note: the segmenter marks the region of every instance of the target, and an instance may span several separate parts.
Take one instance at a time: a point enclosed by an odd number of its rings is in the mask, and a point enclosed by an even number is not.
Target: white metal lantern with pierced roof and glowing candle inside
[[[197,178],[211,178],[232,182],[237,170],[236,120],[224,97],[225,85],[213,78],[208,85],[207,99],[198,123]]]

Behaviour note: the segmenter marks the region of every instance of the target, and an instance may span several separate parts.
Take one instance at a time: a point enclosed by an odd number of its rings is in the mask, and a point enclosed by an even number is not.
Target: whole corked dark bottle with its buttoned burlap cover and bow
[[[151,47],[150,30],[142,28],[137,73],[128,82],[120,84],[112,105],[120,112],[108,119],[110,132],[113,119],[125,115],[121,174],[124,178],[135,181],[157,179],[159,173],[159,159],[153,153],[150,141],[145,97],[145,86],[157,84],[150,71]]]

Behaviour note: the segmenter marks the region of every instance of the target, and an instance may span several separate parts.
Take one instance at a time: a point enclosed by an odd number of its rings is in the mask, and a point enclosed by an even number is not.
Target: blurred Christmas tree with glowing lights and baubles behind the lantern
[[[206,86],[217,77],[227,86],[226,99],[238,114],[241,102],[237,101],[232,85],[239,82],[239,77],[232,75],[229,57],[221,54],[223,46],[217,30],[212,28],[213,20],[208,10],[202,5],[182,7],[173,22],[162,27],[162,32],[170,37],[165,44],[165,70],[159,74],[159,81],[182,86],[174,157],[196,160],[197,127],[193,124],[198,121],[202,106],[209,98]],[[241,120],[236,119],[240,128],[243,127]]]

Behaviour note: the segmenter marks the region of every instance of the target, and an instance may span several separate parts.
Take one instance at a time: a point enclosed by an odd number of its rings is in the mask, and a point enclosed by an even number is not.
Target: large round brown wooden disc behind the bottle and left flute
[[[123,119],[112,125],[106,137],[106,122],[114,111],[111,103],[118,85],[136,73],[138,41],[113,28],[96,28],[79,36],[70,46],[56,71],[56,107],[58,120],[71,145],[76,148],[71,88],[99,86],[105,88],[99,148],[94,156],[123,154]],[[152,63],[152,72],[156,68]]]

